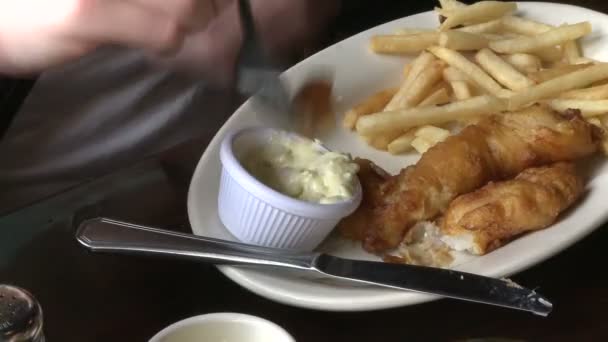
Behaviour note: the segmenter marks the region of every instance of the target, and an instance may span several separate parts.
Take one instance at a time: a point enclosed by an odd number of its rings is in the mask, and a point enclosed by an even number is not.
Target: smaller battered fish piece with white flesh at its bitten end
[[[571,163],[527,169],[452,201],[441,225],[442,241],[454,250],[486,254],[522,233],[548,227],[583,190]]]

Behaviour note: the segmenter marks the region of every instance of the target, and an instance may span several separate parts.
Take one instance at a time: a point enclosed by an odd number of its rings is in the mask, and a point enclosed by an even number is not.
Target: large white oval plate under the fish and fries
[[[553,3],[519,3],[526,18],[560,25],[590,21],[593,34],[583,43],[586,56],[608,61],[608,16],[585,8]],[[398,28],[436,28],[437,15],[426,12],[380,25],[339,42],[294,66],[285,74],[291,85],[319,68],[335,70],[334,92],[338,98],[337,113],[341,115],[358,100],[379,89],[398,85],[405,57],[376,55],[369,51],[369,38],[374,34],[392,33]],[[197,235],[235,240],[221,224],[217,215],[217,193],[220,177],[219,147],[229,130],[265,124],[260,114],[280,118],[280,113],[260,113],[248,101],[226,122],[211,141],[196,168],[188,194],[188,214]],[[257,114],[257,115],[256,115]],[[275,120],[275,121],[277,121]],[[366,146],[352,132],[338,126],[331,135],[322,137],[335,150],[371,159],[389,172],[415,162],[414,155],[395,157]],[[553,226],[528,234],[482,257],[459,257],[455,269],[492,277],[503,277],[525,270],[580,240],[608,218],[608,163],[601,161],[593,168],[585,198],[563,215]],[[238,215],[238,213],[235,213]],[[323,250],[338,256],[376,260],[359,244],[331,237]],[[310,279],[278,271],[255,271],[237,267],[219,267],[230,279],[245,288],[284,304],[329,311],[359,311],[412,305],[436,297],[419,293],[373,286],[335,284],[323,279]],[[537,285],[537,284],[534,284]]]

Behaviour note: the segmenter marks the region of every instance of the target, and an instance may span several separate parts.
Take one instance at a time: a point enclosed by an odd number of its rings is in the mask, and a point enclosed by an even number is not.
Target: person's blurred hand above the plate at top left
[[[339,0],[251,0],[275,55],[305,49]],[[0,74],[30,74],[114,44],[225,84],[242,35],[236,0],[0,0]]]

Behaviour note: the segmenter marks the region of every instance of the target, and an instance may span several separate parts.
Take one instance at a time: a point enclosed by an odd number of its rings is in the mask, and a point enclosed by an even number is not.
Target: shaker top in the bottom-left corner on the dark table
[[[28,291],[0,284],[0,342],[44,342],[40,304]]]

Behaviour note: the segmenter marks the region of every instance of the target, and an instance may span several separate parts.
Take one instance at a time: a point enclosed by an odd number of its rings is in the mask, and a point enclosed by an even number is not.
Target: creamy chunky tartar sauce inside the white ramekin
[[[262,183],[287,196],[335,203],[354,195],[358,165],[347,154],[325,151],[319,141],[276,133],[243,165]]]

